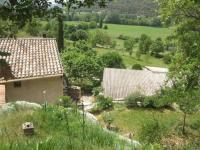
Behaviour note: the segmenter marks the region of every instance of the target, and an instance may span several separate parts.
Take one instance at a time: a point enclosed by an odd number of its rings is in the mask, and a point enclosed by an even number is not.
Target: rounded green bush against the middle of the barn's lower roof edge
[[[142,95],[140,92],[135,92],[127,96],[124,100],[126,107],[128,108],[137,107],[138,102],[140,102],[141,104],[143,103],[144,95]]]

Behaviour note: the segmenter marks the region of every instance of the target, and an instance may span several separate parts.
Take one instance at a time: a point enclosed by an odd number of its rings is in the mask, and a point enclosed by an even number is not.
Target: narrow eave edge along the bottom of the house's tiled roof
[[[43,79],[43,78],[62,77],[62,76],[63,76],[63,74],[57,74],[57,75],[47,75],[47,76],[31,77],[31,78],[19,78],[19,79],[11,79],[11,80],[0,80],[0,84],[17,82],[17,81],[27,81],[27,80]]]

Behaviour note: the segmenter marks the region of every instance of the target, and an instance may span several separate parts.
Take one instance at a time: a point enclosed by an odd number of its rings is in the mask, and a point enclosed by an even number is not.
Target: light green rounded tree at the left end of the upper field
[[[107,46],[111,44],[111,38],[106,32],[102,30],[96,30],[91,35],[91,43],[93,47],[97,46],[97,44]]]

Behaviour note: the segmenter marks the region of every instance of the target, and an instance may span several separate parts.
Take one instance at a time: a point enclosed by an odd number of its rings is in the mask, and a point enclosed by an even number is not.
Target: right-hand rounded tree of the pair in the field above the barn
[[[150,53],[156,57],[160,52],[164,52],[164,43],[161,38],[157,38],[150,46]]]

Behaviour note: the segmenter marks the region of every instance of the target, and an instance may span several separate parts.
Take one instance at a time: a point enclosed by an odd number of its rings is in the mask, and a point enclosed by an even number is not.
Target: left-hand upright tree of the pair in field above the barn
[[[151,38],[146,34],[142,34],[139,39],[139,51],[142,54],[148,53],[150,50],[151,43]]]

